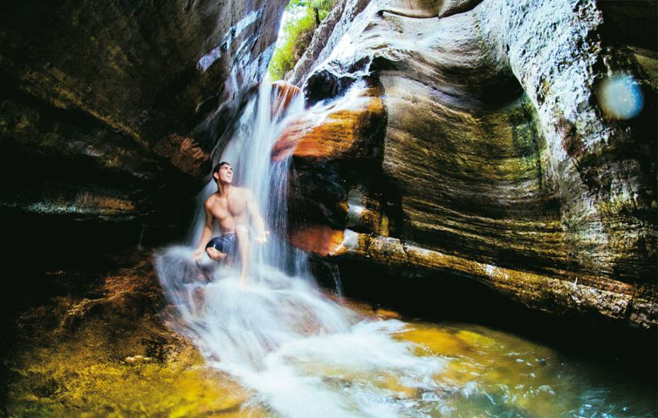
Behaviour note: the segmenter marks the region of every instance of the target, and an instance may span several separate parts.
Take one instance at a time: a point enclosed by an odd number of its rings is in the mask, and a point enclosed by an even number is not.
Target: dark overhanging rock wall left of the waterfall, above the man
[[[0,205],[121,220],[194,193],[285,4],[4,2]]]

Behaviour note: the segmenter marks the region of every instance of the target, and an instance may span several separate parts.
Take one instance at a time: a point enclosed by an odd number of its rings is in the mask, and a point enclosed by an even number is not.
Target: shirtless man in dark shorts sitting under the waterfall
[[[251,247],[249,243],[250,221],[255,230],[255,241],[263,244],[268,232],[260,213],[256,199],[246,188],[231,186],[233,167],[228,162],[221,162],[213,168],[213,178],[217,182],[217,193],[213,193],[203,208],[206,210],[206,225],[203,226],[201,242],[194,251],[194,259],[200,260],[205,250],[215,261],[222,261],[235,254],[235,241],[238,241],[240,254],[240,283],[247,284]],[[213,221],[217,220],[221,235],[210,239],[213,234]]]

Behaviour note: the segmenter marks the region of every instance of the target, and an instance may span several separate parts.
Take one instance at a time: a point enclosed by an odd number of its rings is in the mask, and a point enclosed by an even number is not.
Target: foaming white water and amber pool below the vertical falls
[[[208,316],[192,321],[202,329],[197,343],[209,359],[207,367],[227,373],[224,376],[248,393],[238,416],[656,413],[651,388],[610,372],[606,364],[565,356],[488,327],[388,319],[391,312],[382,317],[349,301],[335,303],[300,283],[304,282],[280,276],[273,290],[272,283],[242,287],[237,278],[226,276],[195,286],[197,294],[208,292],[223,300],[221,306],[204,308],[215,310],[205,315],[222,319],[216,324],[223,328],[221,348],[213,346],[218,341],[203,337],[206,327],[212,327]],[[318,298],[314,303],[319,305],[306,305],[309,301],[303,298]],[[270,310],[249,315],[260,311],[261,303],[269,304]],[[335,322],[325,318],[320,323],[315,317],[333,314],[338,315]]]

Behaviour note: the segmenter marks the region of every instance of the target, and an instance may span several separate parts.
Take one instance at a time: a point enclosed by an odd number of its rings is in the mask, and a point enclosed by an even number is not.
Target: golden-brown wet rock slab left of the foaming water
[[[10,417],[189,415],[241,410],[247,393],[203,366],[169,330],[150,252],[121,254],[93,273],[79,263],[25,282],[5,301],[0,401]],[[21,290],[17,290],[20,292]],[[20,296],[20,298],[19,298]],[[9,327],[9,328],[6,328]],[[247,412],[249,413],[249,412]]]

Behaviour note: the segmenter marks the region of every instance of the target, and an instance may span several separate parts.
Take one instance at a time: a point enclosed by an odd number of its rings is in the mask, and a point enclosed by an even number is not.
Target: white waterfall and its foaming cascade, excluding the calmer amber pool
[[[321,117],[324,105],[305,110],[301,95],[289,106],[272,97],[272,85],[263,83],[217,160],[230,162],[234,184],[254,193],[272,234],[262,247],[252,245],[247,286],[238,283],[235,268],[210,259],[199,268],[191,247],[156,255],[162,287],[179,313],[177,331],[210,366],[252,390],[250,402],[272,416],[423,416],[391,385],[435,390],[440,359],[416,355],[416,345],[396,339],[403,322],[360,317],[326,298],[306,255],[286,242],[289,161],[272,162],[272,145],[296,115]],[[201,235],[203,202],[214,191],[211,181],[199,195],[191,246]]]

